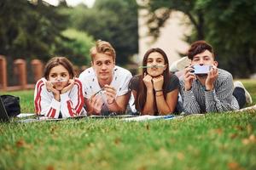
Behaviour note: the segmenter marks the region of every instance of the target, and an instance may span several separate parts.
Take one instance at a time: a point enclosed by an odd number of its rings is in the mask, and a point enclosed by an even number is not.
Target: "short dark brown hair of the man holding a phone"
[[[212,56],[214,57],[213,48],[209,43],[202,40],[193,42],[189,48],[188,57],[192,60],[196,54],[201,54],[206,50],[210,51],[212,53]]]

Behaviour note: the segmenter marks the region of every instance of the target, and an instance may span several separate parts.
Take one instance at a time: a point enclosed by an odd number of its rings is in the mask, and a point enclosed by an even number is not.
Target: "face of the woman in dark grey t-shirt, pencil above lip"
[[[148,75],[151,77],[158,77],[166,70],[165,59],[158,52],[148,55],[147,66],[151,66],[147,68]]]

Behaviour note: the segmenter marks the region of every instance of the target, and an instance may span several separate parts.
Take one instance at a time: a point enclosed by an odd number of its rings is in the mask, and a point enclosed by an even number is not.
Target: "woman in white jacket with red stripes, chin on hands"
[[[75,78],[73,65],[65,57],[54,57],[45,65],[44,77],[34,93],[36,113],[51,118],[85,114],[82,83]]]

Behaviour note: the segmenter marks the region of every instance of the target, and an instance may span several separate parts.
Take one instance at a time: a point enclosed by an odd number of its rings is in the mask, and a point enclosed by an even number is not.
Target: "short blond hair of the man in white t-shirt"
[[[112,45],[109,42],[102,40],[96,41],[96,45],[90,48],[90,58],[93,61],[96,54],[107,54],[115,60],[115,51]]]

